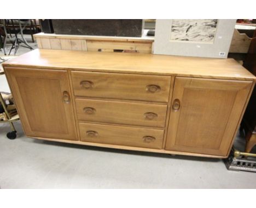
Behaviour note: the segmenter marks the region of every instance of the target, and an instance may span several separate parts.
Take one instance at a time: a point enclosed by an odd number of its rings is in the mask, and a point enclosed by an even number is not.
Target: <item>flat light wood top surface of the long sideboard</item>
[[[255,81],[255,76],[234,59],[165,56],[143,53],[37,49],[11,59],[3,65],[35,69],[75,69],[81,71]]]

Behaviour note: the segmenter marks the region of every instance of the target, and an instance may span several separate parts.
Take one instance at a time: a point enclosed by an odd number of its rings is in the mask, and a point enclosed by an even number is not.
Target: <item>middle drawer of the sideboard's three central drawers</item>
[[[79,121],[165,127],[166,105],[75,99]]]

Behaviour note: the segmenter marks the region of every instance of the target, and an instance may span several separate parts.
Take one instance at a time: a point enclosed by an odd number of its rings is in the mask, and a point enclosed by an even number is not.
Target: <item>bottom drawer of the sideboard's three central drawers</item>
[[[164,130],[79,123],[84,142],[162,149]]]

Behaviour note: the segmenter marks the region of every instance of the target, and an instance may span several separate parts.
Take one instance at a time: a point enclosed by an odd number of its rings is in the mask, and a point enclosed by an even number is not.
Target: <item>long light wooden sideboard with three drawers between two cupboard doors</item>
[[[4,70],[28,137],[224,158],[255,84],[234,59],[34,50]]]

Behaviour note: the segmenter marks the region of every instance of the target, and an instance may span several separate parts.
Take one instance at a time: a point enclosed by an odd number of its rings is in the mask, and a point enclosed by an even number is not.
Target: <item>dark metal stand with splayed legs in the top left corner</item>
[[[23,34],[23,30],[25,29],[25,27],[27,26],[27,24],[29,23],[29,21],[26,21],[25,22],[25,25],[22,27],[21,26],[21,22],[20,20],[19,21],[19,27],[20,27],[20,32],[19,33],[15,33],[15,36],[14,36],[14,39],[13,38],[9,38],[8,37],[8,33],[7,33],[7,29],[6,29],[6,21],[4,20],[4,24],[3,24],[3,27],[4,27],[4,33],[5,33],[5,39],[4,39],[4,45],[3,45],[3,51],[4,51],[4,55],[6,55],[6,51],[5,51],[5,45],[6,45],[6,42],[7,42],[7,38],[10,39],[10,41],[12,42],[12,45],[11,45],[11,49],[9,51],[9,55],[11,53],[11,51],[14,49],[14,55],[16,54],[16,52],[18,51],[18,48],[19,46],[22,46],[22,47],[26,47],[26,48],[30,48],[30,50],[33,50],[33,48],[28,45],[28,42],[26,41],[26,39],[24,38],[24,34]],[[21,39],[18,38],[18,34],[21,35]],[[24,44],[24,45],[20,45],[20,43]]]

